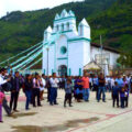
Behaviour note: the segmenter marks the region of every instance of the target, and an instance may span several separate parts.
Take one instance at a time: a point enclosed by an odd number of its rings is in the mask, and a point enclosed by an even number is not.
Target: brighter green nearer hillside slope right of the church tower
[[[90,23],[94,42],[98,42],[99,34],[102,34],[105,45],[132,51],[132,0],[118,0],[106,12],[91,19]]]

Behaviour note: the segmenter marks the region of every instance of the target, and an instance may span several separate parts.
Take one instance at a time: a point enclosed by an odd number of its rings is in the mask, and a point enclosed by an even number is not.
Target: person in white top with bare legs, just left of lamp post
[[[43,95],[44,95],[44,88],[46,86],[46,80],[45,80],[44,74],[42,74],[41,81],[42,81],[42,86],[40,87],[40,91],[41,91],[41,96],[40,97],[41,97],[41,100],[44,100]]]

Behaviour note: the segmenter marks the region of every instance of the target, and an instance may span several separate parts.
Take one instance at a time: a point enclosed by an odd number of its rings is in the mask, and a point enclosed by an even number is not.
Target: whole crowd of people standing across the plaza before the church
[[[98,102],[102,99],[106,102],[106,92],[111,92],[112,107],[128,107],[129,94],[132,92],[132,76],[90,76],[84,73],[84,76],[57,77],[56,73],[52,76],[41,76],[37,73],[21,75],[19,72],[8,73],[6,68],[0,69],[0,122],[2,121],[2,107],[8,116],[12,116],[18,110],[18,100],[20,90],[23,90],[26,97],[25,110],[30,110],[30,105],[42,107],[44,100],[44,89],[47,89],[47,101],[51,106],[58,105],[57,90],[65,90],[64,107],[73,107],[73,97],[76,102],[89,101],[90,91],[96,91]],[[6,99],[4,92],[11,92],[10,105]]]

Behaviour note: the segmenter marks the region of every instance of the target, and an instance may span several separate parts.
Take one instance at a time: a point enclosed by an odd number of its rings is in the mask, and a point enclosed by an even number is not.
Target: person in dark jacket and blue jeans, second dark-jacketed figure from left
[[[29,105],[31,102],[32,98],[32,90],[33,90],[33,81],[32,81],[32,76],[26,75],[25,82],[24,82],[24,92],[26,96],[26,102],[25,102],[25,110],[29,110]]]

